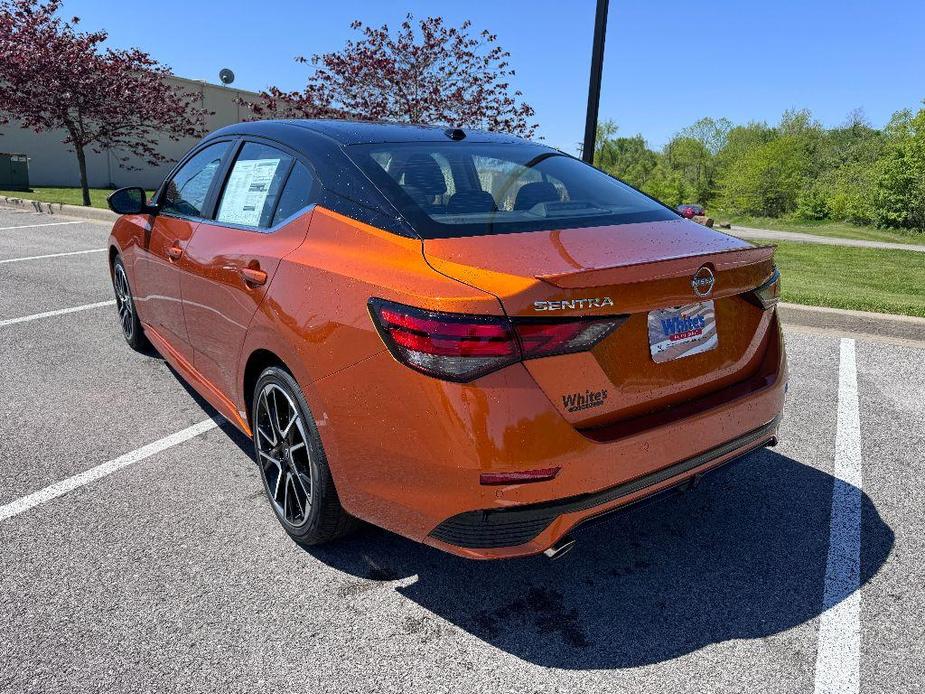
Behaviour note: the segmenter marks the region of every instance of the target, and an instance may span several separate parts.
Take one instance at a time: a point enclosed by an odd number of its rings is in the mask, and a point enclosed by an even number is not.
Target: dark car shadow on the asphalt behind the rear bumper
[[[460,559],[371,527],[306,551],[358,577],[354,583],[417,576],[394,589],[531,663],[638,667],[817,617],[833,481],[763,449],[696,489],[579,529],[575,549],[556,561]],[[894,535],[866,494],[862,504],[863,585],[886,561]],[[439,637],[445,625],[432,621],[401,628]]]

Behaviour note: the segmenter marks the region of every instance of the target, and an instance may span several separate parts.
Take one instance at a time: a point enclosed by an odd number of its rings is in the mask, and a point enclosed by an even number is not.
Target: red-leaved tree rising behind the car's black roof
[[[414,22],[409,14],[393,34],[387,25],[355,21],[362,39],[296,58],[315,66],[303,91],[270,87],[250,106],[258,117],[394,120],[532,136],[533,108],[508,81],[510,53],[495,34],[471,35],[471,25],[447,26],[440,17]]]

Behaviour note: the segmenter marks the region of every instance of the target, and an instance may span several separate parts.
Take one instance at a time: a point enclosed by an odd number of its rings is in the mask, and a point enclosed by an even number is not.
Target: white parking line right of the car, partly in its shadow
[[[861,679],[861,418],[850,338],[841,340],[834,476],[815,691],[856,694]]]

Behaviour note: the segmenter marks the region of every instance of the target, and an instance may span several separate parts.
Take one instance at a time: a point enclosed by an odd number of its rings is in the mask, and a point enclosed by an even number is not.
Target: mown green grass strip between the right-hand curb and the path
[[[775,244],[782,298],[795,304],[925,317],[925,253]]]

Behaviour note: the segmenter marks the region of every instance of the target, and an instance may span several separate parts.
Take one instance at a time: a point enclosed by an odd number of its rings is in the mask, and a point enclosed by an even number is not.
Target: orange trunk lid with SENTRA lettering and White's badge
[[[772,247],[756,248],[694,222],[673,220],[429,239],[424,255],[439,272],[494,294],[511,317],[628,315],[589,352],[525,362],[562,415],[579,428],[708,395],[747,379],[761,364],[771,312],[746,294],[771,275]],[[714,283],[698,296],[692,280],[703,267]],[[677,358],[656,361],[650,349],[650,342],[658,341],[653,331],[672,314],[653,314],[650,330],[649,313],[695,304],[677,315],[697,320],[712,312],[715,346],[699,352],[672,347],[668,356]]]

